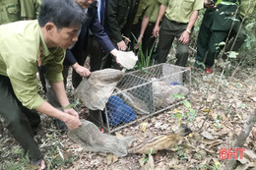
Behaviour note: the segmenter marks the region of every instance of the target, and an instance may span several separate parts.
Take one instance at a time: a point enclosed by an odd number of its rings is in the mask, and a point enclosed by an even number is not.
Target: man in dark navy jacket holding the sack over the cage
[[[97,17],[97,7],[95,0],[75,0],[87,13],[86,23],[83,24],[78,42],[67,50],[64,65],[72,66],[74,71],[72,75],[72,84],[76,88],[83,77],[90,75],[90,71],[84,67],[87,58],[87,46],[89,38],[89,28],[96,37],[96,41],[103,48],[105,53],[116,55],[117,49],[113,46],[104,28],[100,25]],[[101,62],[101,59],[99,61]]]

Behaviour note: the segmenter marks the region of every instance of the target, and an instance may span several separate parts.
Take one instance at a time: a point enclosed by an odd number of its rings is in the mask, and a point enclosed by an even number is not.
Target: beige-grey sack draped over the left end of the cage
[[[123,78],[124,73],[115,69],[92,72],[77,87],[75,95],[91,110],[103,110],[114,87]]]

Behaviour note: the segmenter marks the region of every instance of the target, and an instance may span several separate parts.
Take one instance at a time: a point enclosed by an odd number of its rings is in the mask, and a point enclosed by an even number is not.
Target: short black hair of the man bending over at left
[[[80,25],[85,22],[86,15],[82,7],[74,0],[43,0],[38,16],[39,26],[53,23],[58,29]]]

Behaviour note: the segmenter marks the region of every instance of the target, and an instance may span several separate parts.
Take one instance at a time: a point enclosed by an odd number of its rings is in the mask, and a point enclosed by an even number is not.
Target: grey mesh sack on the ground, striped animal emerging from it
[[[111,152],[117,157],[127,155],[127,147],[136,139],[133,137],[116,138],[102,134],[96,125],[87,120],[81,120],[82,126],[76,130],[69,130],[69,138],[81,144],[87,151]]]

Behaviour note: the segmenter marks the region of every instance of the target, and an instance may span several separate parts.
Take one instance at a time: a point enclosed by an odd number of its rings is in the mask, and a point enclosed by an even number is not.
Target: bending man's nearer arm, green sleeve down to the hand
[[[28,57],[28,59],[30,60],[30,57]],[[78,128],[78,126],[81,125],[76,116],[68,116],[68,114],[64,114],[64,112],[55,109],[37,93],[38,85],[35,76],[37,71],[36,63],[32,63],[32,60],[28,62],[22,58],[16,59],[16,61],[12,60],[11,63],[7,61],[7,76],[11,81],[15,95],[24,106],[29,109],[35,109],[48,116],[58,118],[65,122],[70,129]],[[19,67],[17,67],[18,63]],[[67,103],[68,102],[65,104]],[[41,109],[42,104],[44,107]],[[68,111],[68,113],[70,113],[69,115],[75,115],[74,111]]]

